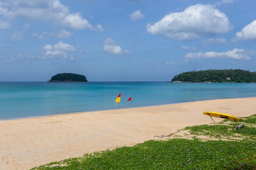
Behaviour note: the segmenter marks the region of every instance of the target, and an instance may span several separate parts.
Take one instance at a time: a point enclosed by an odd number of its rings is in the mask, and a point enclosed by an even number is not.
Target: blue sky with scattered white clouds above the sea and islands
[[[256,71],[254,0],[0,0],[0,81]]]

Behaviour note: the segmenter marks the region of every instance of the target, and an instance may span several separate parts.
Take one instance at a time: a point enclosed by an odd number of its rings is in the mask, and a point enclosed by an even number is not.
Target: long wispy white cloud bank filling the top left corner
[[[94,28],[88,20],[82,18],[81,13],[70,13],[69,8],[59,0],[2,0],[0,14],[9,19],[21,16],[29,20],[52,20],[56,25],[72,29],[103,30],[100,24]]]

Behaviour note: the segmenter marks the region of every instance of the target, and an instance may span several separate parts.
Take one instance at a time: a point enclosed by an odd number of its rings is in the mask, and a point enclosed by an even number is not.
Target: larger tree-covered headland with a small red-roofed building
[[[240,69],[189,71],[175,75],[171,82],[256,82],[256,72]]]

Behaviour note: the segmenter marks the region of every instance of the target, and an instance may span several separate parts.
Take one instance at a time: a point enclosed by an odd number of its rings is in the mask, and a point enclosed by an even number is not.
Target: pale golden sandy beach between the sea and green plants
[[[256,114],[256,97],[0,121],[0,170],[27,170],[85,153],[132,146],[186,126],[210,124],[204,111]],[[223,119],[214,118],[216,122]]]

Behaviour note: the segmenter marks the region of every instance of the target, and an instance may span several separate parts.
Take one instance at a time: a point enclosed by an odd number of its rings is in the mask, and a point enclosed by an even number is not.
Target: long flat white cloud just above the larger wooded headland
[[[251,58],[247,56],[247,52],[244,49],[233,49],[231,51],[226,51],[218,53],[215,51],[209,51],[205,53],[187,53],[185,56],[185,61],[194,59],[233,59],[233,60],[250,60]]]

